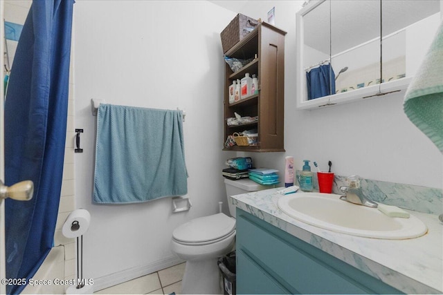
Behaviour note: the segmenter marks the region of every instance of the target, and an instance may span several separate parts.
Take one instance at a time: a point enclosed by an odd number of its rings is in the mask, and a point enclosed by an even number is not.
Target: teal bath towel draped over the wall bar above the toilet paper
[[[100,104],[94,202],[183,196],[187,178],[181,111]]]

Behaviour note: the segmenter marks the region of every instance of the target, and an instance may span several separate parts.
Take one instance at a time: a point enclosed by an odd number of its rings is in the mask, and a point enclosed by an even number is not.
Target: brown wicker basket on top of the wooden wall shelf
[[[235,44],[242,40],[251,29],[255,28],[258,21],[246,17],[246,15],[238,14],[223,31],[221,31],[221,47],[223,53],[230,50]]]

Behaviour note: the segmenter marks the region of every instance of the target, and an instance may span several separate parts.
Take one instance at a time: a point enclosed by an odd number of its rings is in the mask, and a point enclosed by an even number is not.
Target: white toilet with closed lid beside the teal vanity
[[[227,198],[271,188],[248,178],[225,179],[224,183]],[[235,206],[229,200],[228,206],[232,217],[224,213],[199,217],[172,232],[172,251],[186,260],[181,294],[220,294],[217,259],[232,251],[235,244]]]

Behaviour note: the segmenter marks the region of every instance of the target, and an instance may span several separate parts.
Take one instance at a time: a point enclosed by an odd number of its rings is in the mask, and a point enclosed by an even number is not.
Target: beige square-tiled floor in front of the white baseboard
[[[180,294],[186,263],[102,289],[94,294]]]

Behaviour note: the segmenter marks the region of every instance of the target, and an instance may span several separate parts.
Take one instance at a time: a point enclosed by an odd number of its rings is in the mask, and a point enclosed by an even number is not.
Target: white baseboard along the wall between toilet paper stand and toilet
[[[140,278],[141,276],[146,276],[147,274],[152,274],[153,272],[158,272],[161,269],[172,267],[183,262],[184,260],[181,260],[176,256],[170,256],[147,265],[132,267],[130,269],[124,269],[121,272],[108,274],[106,276],[101,276],[100,278],[94,278],[93,291],[97,292],[101,289],[106,289],[120,283],[125,283],[128,280]]]

